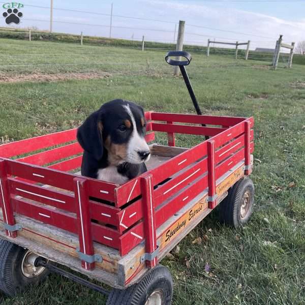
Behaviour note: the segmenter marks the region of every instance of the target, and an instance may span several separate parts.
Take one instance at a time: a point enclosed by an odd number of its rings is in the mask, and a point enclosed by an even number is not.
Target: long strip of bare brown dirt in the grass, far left
[[[0,75],[0,82],[20,82],[20,81],[64,81],[69,79],[95,79],[111,76],[109,73],[33,73],[17,76]]]

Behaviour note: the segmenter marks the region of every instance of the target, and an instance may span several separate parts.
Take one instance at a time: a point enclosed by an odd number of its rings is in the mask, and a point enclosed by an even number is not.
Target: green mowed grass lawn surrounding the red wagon
[[[164,61],[166,50],[3,39],[0,51],[2,79],[107,72],[96,79],[0,82],[2,142],[76,127],[115,98],[146,110],[194,113],[182,78],[173,77]],[[174,305],[305,303],[305,66],[273,71],[266,64],[193,53],[188,73],[202,111],[255,118],[256,197],[245,227],[219,224],[216,210],[162,261],[173,276]],[[197,137],[178,136],[177,145],[197,142]],[[197,237],[201,244],[192,243]],[[104,305],[106,299],[51,275],[16,297],[0,294],[0,302]]]

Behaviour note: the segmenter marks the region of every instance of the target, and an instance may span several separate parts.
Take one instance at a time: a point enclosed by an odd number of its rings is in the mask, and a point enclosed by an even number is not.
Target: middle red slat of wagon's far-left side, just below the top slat
[[[82,152],[82,147],[76,143],[42,151],[35,155],[17,159],[20,162],[31,163],[35,165],[44,165],[60,159],[64,159]]]

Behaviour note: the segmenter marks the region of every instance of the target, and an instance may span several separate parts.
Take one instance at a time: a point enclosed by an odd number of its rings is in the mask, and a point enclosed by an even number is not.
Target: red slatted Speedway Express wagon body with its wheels
[[[0,146],[1,290],[13,295],[50,270],[109,294],[56,262],[114,287],[109,305],[170,304],[161,259],[217,205],[227,224],[249,219],[252,117],[145,117],[146,141],[161,132],[168,145],[150,144],[148,171],[124,185],[77,173],[76,129]],[[209,139],[181,148],[176,133]]]

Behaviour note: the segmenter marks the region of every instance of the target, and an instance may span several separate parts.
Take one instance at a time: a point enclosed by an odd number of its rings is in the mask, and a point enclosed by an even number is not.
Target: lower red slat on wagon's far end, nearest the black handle
[[[191,125],[153,123],[153,130],[160,131],[160,132],[167,132],[167,133],[215,136],[215,135],[223,132],[226,129],[217,128],[217,127],[202,127],[202,126],[191,126]]]

